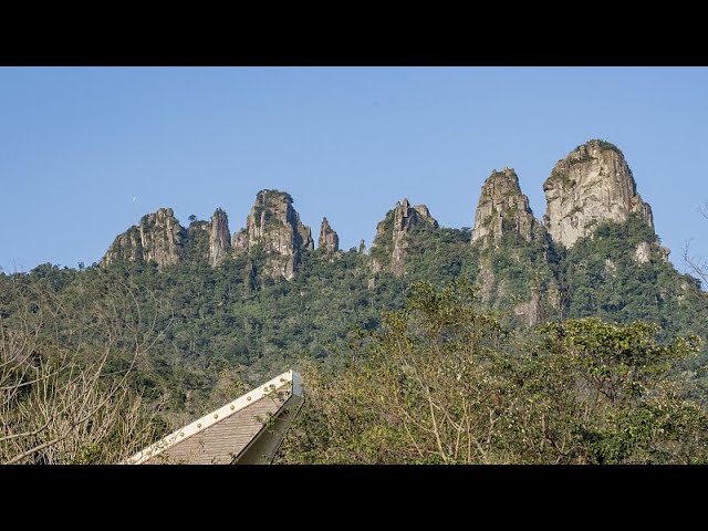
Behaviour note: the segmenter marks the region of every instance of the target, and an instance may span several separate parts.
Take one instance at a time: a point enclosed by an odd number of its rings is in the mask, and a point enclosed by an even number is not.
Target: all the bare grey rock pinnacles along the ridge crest
[[[523,194],[516,171],[510,168],[493,170],[482,186],[475,211],[471,243],[482,240],[488,246],[507,229],[516,227],[513,230],[525,239],[543,239],[548,232],[554,243],[571,248],[579,238],[591,236],[594,227],[602,221],[624,221],[632,214],[639,215],[654,228],[652,208],[637,192],[624,154],[608,142],[591,139],[570,152],[553,166],[543,189],[546,211],[539,219],[530,208],[529,198]],[[312,231],[300,220],[293,202],[287,191],[259,191],[246,227],[232,235],[228,229],[228,216],[220,208],[215,211],[210,222],[192,221],[192,225],[197,223],[195,229],[202,228],[210,232],[209,252],[205,259],[217,267],[228,257],[248,252],[260,242],[267,253],[281,257],[281,260],[272,263],[272,277],[291,280],[300,266],[302,253],[315,249]],[[386,227],[391,222],[387,221],[388,217],[393,218],[393,228]],[[377,223],[376,236],[369,247],[369,254],[379,254],[372,261],[374,272],[388,267],[396,274],[405,273],[407,233],[420,220],[433,229],[438,228],[437,220],[425,205],[412,207],[405,198]],[[385,230],[393,230],[391,242],[383,239]],[[101,264],[107,266],[116,260],[155,261],[159,269],[178,264],[184,260],[183,247],[196,232],[181,227],[170,208],[160,208],[155,214],[145,215],[140,223],[118,235]],[[488,235],[492,235],[492,240],[487,238]],[[329,226],[326,217],[321,226],[317,247],[322,244],[339,251],[339,236]],[[652,248],[647,246],[637,246],[637,260],[646,262],[649,259]],[[391,257],[376,253],[377,248],[386,248]],[[668,259],[670,251],[660,248],[659,252]]]

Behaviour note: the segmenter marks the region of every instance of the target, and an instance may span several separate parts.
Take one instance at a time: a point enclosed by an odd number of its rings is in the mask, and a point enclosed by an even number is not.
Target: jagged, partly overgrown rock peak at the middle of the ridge
[[[372,243],[372,267],[374,272],[384,268],[383,256],[391,257],[391,271],[403,274],[408,249],[408,233],[413,227],[438,228],[438,222],[425,205],[410,206],[408,199],[396,202],[396,207],[386,214],[386,218],[376,226],[376,237]],[[376,251],[376,252],[374,252]]]

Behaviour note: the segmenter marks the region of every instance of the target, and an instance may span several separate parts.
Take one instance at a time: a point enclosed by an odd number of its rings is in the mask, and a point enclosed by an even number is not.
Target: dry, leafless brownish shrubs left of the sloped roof
[[[39,284],[0,288],[0,464],[118,462],[165,429],[133,388],[159,333],[129,289],[79,309]]]

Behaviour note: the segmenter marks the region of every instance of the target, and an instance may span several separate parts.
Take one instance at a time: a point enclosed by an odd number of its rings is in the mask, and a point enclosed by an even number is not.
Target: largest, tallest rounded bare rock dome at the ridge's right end
[[[636,191],[624,155],[604,140],[590,140],[558,162],[543,184],[543,217],[554,241],[572,247],[600,221],[625,221],[637,214],[654,227],[652,208]]]

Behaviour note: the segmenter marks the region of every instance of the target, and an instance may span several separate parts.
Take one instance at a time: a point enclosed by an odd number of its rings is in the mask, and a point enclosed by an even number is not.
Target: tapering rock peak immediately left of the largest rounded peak
[[[504,168],[493,170],[482,186],[475,212],[472,243],[482,240],[485,246],[498,244],[502,236],[510,232],[531,241],[543,232],[543,228],[533,217],[529,198],[521,192],[516,171]]]

